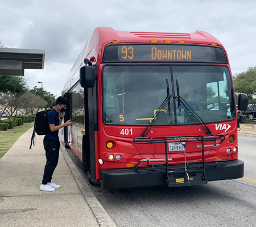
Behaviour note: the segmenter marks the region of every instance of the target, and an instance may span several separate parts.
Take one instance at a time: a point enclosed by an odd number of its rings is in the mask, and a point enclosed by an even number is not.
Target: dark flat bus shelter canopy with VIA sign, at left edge
[[[24,69],[44,69],[44,50],[0,48],[0,75],[24,75]]]

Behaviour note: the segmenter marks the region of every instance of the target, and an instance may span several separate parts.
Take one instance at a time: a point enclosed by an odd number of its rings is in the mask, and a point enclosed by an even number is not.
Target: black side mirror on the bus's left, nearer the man
[[[80,84],[81,87],[88,89],[94,87],[95,69],[92,66],[82,66],[80,68]]]

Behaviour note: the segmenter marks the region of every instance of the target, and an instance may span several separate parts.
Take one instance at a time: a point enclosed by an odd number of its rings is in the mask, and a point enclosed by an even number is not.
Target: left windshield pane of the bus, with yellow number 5
[[[148,124],[167,96],[166,78],[172,94],[170,66],[105,66],[103,78],[105,123]],[[170,124],[162,112],[156,124]]]

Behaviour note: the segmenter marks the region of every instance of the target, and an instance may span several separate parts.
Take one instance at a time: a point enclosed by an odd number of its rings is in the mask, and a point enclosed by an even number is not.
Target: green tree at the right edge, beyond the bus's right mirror
[[[245,72],[234,75],[234,88],[236,93],[246,93],[249,103],[254,104],[256,95],[256,66],[249,67]]]

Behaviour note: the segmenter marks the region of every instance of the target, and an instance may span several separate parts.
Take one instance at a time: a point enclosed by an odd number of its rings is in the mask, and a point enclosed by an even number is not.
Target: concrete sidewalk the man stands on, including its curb
[[[52,182],[40,191],[46,156],[43,136],[28,149],[32,129],[0,159],[0,226],[115,226],[63,145]]]

